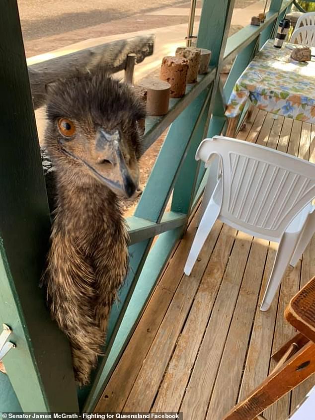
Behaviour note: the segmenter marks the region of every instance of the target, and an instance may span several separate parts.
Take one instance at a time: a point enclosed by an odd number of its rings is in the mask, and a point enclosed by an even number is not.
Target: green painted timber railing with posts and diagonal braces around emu
[[[0,1],[0,322],[16,348],[0,375],[0,411],[92,411],[141,315],[207,173],[195,161],[200,141],[220,134],[232,88],[259,45],[272,37],[293,0],[272,0],[266,21],[228,38],[234,0],[204,0],[197,46],[212,50],[200,76],[169,112],[146,121],[146,148],[168,127],[139,205],[129,223],[130,271],[113,305],[106,354],[91,387],[76,388],[69,344],[50,321],[38,279],[48,246],[49,209],[15,0]],[[236,57],[225,86],[223,66]],[[171,199],[171,210],[165,212]],[[153,245],[154,238],[158,236]]]

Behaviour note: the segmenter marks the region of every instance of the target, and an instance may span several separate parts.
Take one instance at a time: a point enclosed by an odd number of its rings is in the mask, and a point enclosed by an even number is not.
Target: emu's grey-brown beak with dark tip
[[[130,157],[124,147],[118,130],[98,130],[95,155],[93,169],[97,178],[117,195],[130,198],[139,185],[139,168],[135,156]]]

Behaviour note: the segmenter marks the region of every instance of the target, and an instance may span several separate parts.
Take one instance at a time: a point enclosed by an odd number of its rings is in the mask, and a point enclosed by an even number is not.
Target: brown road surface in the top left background
[[[30,41],[184,2],[187,0],[18,0],[18,7],[24,40]]]

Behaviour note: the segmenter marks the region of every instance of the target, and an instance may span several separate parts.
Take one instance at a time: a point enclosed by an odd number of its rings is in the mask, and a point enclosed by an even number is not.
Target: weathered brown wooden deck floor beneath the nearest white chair
[[[239,139],[315,162],[315,125],[255,109]],[[315,275],[315,238],[288,268],[268,312],[259,311],[276,245],[217,222],[190,277],[183,267],[196,217],[173,253],[96,412],[183,412],[222,420],[273,368],[271,353],[294,334],[289,299]],[[310,378],[265,412],[284,420],[315,384]]]

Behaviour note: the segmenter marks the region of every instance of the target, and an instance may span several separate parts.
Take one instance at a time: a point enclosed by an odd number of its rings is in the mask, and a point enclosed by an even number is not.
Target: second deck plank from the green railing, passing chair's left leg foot
[[[152,346],[143,361],[137,380],[124,406],[124,412],[150,411],[221,227],[221,224],[217,224],[210,232],[207,243],[198,258],[200,261],[195,264],[191,275],[183,275]],[[174,274],[172,271],[173,276]],[[179,271],[177,275],[181,276],[182,271]]]

